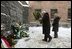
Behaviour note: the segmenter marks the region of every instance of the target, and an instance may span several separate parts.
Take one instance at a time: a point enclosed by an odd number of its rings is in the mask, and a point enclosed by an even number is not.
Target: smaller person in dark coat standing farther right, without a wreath
[[[59,28],[59,20],[60,20],[60,17],[56,16],[53,21],[53,24],[52,24],[52,26],[53,26],[52,31],[54,31],[54,38],[58,37],[57,32],[58,32],[58,28]]]

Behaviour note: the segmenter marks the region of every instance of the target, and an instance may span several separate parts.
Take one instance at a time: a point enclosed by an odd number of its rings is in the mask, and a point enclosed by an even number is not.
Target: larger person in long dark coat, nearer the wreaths
[[[42,26],[43,26],[43,34],[45,35],[43,41],[47,41],[47,38],[49,38],[48,42],[50,42],[52,37],[50,36],[50,20],[48,13],[44,13],[43,15]]]

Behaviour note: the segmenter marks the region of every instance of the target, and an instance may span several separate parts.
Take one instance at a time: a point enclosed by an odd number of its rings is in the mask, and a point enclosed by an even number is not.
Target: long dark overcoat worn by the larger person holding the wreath
[[[43,34],[50,34],[49,14],[45,13],[42,18]]]

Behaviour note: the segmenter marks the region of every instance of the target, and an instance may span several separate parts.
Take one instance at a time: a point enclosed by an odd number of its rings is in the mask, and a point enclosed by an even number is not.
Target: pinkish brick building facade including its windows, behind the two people
[[[29,22],[35,22],[33,16],[35,10],[47,11],[50,20],[53,20],[54,14],[57,13],[61,17],[60,22],[71,21],[71,1],[30,1],[29,4]]]

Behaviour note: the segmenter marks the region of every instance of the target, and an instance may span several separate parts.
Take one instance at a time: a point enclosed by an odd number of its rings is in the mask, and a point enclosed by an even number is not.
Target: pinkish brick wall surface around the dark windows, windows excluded
[[[35,19],[33,17],[34,9],[42,9],[49,12],[50,15],[50,9],[57,9],[58,14],[61,17],[61,22],[67,22],[68,20],[68,8],[71,8],[71,2],[70,1],[30,1],[30,9],[29,9],[29,21],[35,22]],[[50,15],[51,19],[51,15]]]

